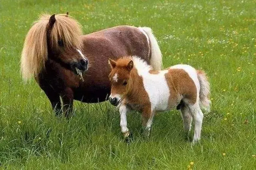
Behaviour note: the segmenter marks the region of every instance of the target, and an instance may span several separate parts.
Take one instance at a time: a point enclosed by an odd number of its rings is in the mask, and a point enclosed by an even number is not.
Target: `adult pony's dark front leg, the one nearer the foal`
[[[65,113],[66,118],[70,118],[73,114],[73,90],[71,88],[66,88],[60,95],[63,102],[63,113]]]

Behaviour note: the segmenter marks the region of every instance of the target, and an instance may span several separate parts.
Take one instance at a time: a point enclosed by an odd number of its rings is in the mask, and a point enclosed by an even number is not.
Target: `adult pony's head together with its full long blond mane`
[[[68,14],[44,14],[29,30],[22,50],[21,72],[25,80],[36,77],[48,59],[77,74],[86,71],[88,59],[81,51],[80,24]]]

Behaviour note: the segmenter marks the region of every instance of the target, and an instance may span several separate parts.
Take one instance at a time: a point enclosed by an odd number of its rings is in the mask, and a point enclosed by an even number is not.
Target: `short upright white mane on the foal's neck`
[[[144,59],[141,59],[136,55],[132,56],[132,61],[139,75],[142,75],[143,73],[148,73],[148,71],[153,69],[153,67],[151,65],[148,65]]]

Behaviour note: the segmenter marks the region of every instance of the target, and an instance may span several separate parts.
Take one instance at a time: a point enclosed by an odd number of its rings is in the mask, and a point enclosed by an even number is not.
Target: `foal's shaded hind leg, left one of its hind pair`
[[[191,129],[191,123],[192,123],[192,115],[190,113],[190,110],[188,108],[188,105],[184,104],[182,107],[180,107],[181,116],[183,120],[183,128],[184,132],[188,135]]]

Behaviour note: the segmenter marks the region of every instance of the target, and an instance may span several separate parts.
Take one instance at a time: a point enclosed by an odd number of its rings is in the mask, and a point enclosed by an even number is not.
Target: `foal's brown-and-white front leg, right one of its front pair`
[[[146,136],[150,134],[153,117],[154,114],[150,107],[146,107],[142,110],[142,126],[144,127]]]

